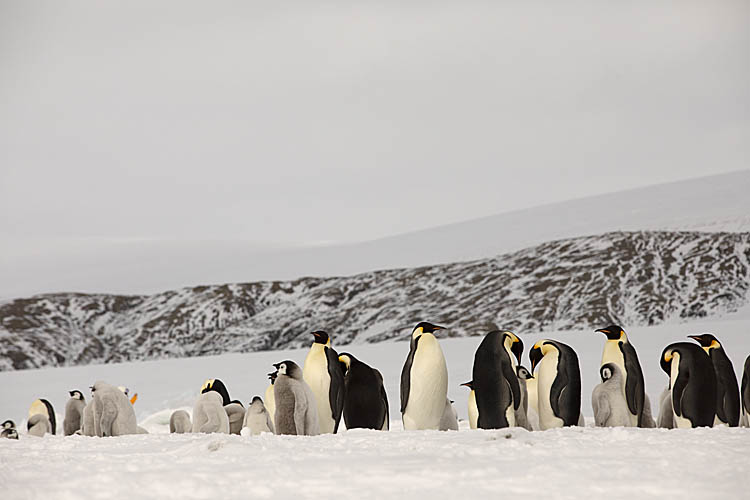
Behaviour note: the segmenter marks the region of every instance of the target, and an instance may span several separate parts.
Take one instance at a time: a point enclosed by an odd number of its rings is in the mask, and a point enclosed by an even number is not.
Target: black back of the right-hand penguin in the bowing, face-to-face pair
[[[578,354],[572,347],[547,340],[545,344],[554,345],[560,353],[557,358],[557,377],[552,382],[549,393],[552,412],[561,418],[563,425],[578,425],[581,414],[581,367]]]

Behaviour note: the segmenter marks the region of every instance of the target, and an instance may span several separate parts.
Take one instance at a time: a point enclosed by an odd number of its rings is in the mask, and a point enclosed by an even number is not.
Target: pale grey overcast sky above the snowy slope
[[[361,241],[747,168],[748,19],[717,0],[0,0],[0,250]]]

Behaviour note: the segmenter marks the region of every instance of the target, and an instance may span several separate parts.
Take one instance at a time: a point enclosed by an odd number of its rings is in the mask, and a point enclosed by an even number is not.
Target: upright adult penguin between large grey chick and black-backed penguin
[[[336,433],[344,409],[344,373],[331,338],[324,331],[312,332],[314,338],[305,358],[302,378],[315,395],[321,434]]]

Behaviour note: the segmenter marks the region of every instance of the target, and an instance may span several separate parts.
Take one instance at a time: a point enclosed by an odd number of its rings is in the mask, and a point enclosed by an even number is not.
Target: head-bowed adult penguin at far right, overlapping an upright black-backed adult
[[[712,427],[716,415],[716,375],[703,349],[688,342],[664,348],[660,363],[669,375],[675,427]]]

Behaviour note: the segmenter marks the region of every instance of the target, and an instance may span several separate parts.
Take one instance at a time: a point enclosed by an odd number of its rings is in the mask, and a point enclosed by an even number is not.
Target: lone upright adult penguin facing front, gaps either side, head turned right
[[[434,333],[442,326],[423,321],[411,334],[401,370],[401,418],[404,430],[440,428],[448,397],[448,367]]]

